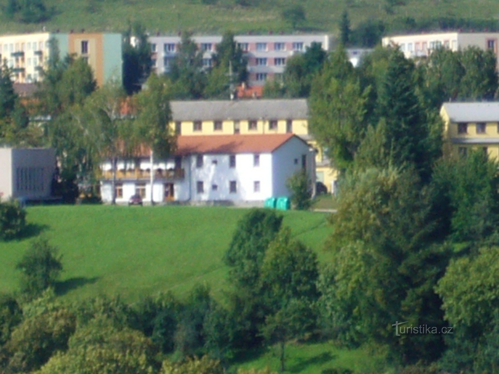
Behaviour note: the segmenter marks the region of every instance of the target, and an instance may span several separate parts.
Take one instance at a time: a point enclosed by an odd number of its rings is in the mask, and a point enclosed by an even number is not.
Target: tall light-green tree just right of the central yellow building
[[[364,137],[369,92],[369,86],[361,88],[342,48],[334,52],[313,81],[310,133],[339,169],[350,166]]]

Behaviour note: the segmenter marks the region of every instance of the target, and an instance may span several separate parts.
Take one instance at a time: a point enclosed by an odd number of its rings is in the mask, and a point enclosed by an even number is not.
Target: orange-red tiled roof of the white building
[[[270,153],[293,136],[293,134],[179,136],[175,154],[182,156],[193,153]]]

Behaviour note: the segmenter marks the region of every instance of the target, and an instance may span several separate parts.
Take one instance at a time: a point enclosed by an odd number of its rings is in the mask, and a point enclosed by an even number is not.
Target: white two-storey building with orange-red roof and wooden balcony
[[[260,202],[289,196],[286,180],[304,168],[315,182],[315,154],[293,134],[179,136],[177,152],[151,168],[147,152],[117,165],[116,201],[139,193],[159,201]],[[112,200],[111,162],[102,165],[102,200]]]

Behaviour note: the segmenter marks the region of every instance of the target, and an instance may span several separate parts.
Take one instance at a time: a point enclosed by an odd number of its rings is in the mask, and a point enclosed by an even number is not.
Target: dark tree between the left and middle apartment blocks
[[[140,91],[150,73],[151,45],[146,30],[140,23],[129,24],[123,40],[123,86],[127,94]]]

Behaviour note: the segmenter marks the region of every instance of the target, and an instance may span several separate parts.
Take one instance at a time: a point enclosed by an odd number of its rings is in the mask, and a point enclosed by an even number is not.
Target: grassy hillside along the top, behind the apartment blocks
[[[7,0],[2,0],[5,4]],[[206,4],[214,2],[214,4]],[[436,17],[497,20],[494,0],[45,0],[56,13],[39,24],[21,24],[3,16],[0,33],[70,29],[123,31],[129,20],[141,21],[151,33],[192,30],[203,33],[232,29],[236,32],[290,32],[280,13],[284,6],[300,3],[306,11],[302,31],[336,33],[347,9],[352,25],[381,19],[388,25],[412,17],[416,21]],[[247,3],[248,6],[237,5]],[[388,3],[395,5],[387,6]]]

